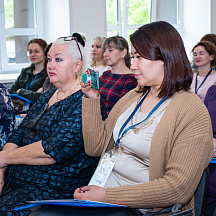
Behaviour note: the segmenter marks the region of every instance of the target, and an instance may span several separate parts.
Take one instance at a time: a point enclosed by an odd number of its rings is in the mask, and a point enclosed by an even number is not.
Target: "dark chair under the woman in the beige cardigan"
[[[207,167],[202,175],[202,178],[199,182],[199,185],[194,194],[194,211],[195,216],[204,216],[205,215],[205,201],[208,188],[208,179],[209,179],[209,168]],[[170,213],[170,216],[192,216],[193,209],[187,209],[181,211],[182,205],[180,203],[175,204],[174,206],[164,208],[158,212],[149,212],[145,216],[154,216],[159,214]]]

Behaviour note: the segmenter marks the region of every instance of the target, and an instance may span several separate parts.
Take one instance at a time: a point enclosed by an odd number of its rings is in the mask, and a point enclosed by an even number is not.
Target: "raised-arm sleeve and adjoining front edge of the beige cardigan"
[[[90,99],[83,96],[82,124],[85,151],[90,156],[101,156],[104,151],[114,147],[113,129],[119,117],[133,103],[139,94],[131,90],[122,97],[109,113],[108,118],[102,121],[100,112],[100,96]]]

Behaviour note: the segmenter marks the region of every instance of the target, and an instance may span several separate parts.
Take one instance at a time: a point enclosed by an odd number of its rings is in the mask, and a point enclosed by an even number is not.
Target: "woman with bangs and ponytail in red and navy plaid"
[[[107,65],[112,69],[105,71],[99,79],[99,93],[109,113],[121,97],[137,86],[137,81],[130,70],[129,47],[123,37],[107,38],[103,43],[102,50]]]

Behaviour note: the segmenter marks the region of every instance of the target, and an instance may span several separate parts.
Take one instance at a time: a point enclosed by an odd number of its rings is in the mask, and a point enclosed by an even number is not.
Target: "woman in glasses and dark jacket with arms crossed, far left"
[[[45,48],[46,41],[35,38],[27,45],[27,54],[31,66],[23,68],[21,74],[9,89],[10,94],[18,94],[32,102],[36,102],[41,93],[37,92],[47,77]]]

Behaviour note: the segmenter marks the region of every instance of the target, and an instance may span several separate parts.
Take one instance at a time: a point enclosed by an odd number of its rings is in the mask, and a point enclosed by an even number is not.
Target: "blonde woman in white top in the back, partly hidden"
[[[111,68],[107,66],[103,57],[102,44],[105,40],[105,37],[95,37],[91,45],[91,59],[88,67],[99,72],[99,77],[104,71],[111,70]]]

